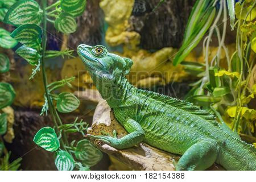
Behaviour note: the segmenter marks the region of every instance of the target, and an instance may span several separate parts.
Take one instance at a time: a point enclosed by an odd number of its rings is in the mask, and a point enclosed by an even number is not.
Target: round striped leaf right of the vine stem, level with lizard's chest
[[[60,113],[70,113],[76,110],[80,105],[80,101],[76,96],[69,92],[60,93],[57,98],[57,110]]]

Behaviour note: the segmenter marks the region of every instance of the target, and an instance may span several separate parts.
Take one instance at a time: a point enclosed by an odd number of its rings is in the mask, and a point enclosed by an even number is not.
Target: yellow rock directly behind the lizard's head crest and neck
[[[177,67],[172,65],[176,49],[167,47],[154,53],[143,49],[138,52],[124,50],[123,56],[130,57],[134,62],[128,79],[135,86],[150,88],[154,85],[166,85],[171,81],[181,81],[188,76],[182,65]]]

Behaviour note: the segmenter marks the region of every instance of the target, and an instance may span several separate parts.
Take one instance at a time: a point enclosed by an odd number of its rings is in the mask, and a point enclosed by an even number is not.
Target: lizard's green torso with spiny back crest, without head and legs
[[[122,111],[142,126],[144,142],[151,146],[184,154],[193,144],[209,140],[216,144],[217,162],[225,168],[256,169],[255,148],[223,130],[213,114],[189,102],[145,90],[137,90],[125,102],[127,107]],[[246,166],[248,159],[251,164]]]

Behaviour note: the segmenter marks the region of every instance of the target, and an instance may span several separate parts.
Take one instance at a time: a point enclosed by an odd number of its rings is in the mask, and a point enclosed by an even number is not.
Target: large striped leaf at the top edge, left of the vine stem
[[[4,21],[21,26],[23,24],[40,24],[43,18],[43,11],[34,0],[20,0],[8,10]]]

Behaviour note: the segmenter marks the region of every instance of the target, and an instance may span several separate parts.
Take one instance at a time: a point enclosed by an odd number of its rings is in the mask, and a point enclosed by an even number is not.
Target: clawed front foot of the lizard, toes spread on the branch
[[[118,145],[118,139],[117,139],[117,132],[114,130],[113,131],[113,136],[114,137],[111,137],[109,133],[106,133],[106,131],[101,131],[101,134],[102,135],[86,135],[92,139],[96,139],[96,140],[99,140],[101,142],[104,142],[106,144],[109,144],[110,146],[117,146]]]

